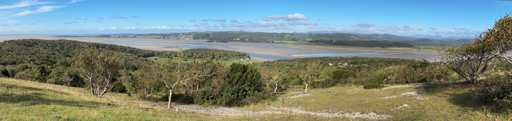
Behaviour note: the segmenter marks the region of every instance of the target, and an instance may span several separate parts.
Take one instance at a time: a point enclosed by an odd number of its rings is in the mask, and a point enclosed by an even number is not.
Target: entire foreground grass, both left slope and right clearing
[[[386,96],[423,90],[419,95]],[[472,98],[476,87],[463,82],[422,84],[364,90],[361,86],[311,89],[289,87],[276,94],[278,99],[238,107],[245,110],[271,110],[281,113],[246,116],[219,116],[202,113],[158,110],[165,101],[137,99],[122,93],[91,96],[84,88],[0,78],[0,120],[368,120],[370,118],[325,117],[332,114],[388,115],[388,120],[510,120],[512,114],[482,105]],[[173,105],[177,105],[173,103]],[[407,105],[407,106],[406,106]],[[294,108],[305,113],[288,111]],[[342,111],[342,112],[340,112]],[[314,113],[310,114],[310,113]],[[347,115],[346,115],[347,116]]]

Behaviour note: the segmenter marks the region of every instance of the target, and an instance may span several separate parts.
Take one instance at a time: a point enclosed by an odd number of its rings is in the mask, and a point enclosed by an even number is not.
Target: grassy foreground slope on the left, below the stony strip
[[[6,86],[14,86],[10,96],[5,92]],[[219,116],[152,108],[164,104],[121,93],[106,93],[103,98],[96,98],[83,88],[0,78],[0,120],[329,119],[298,114]]]

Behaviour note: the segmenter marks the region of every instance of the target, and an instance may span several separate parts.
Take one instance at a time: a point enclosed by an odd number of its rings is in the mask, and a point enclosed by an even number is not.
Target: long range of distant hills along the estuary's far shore
[[[331,33],[335,32],[335,33]],[[359,41],[375,40],[388,42],[402,42],[409,44],[461,44],[470,41],[468,37],[443,37],[430,35],[411,35],[409,37],[391,34],[349,34],[338,31],[318,31],[325,34],[297,34],[297,33],[267,33],[247,31],[221,31],[221,32],[189,32],[189,33],[159,33],[159,34],[122,34],[98,35],[95,37],[108,38],[148,38],[148,39],[196,39],[208,42],[255,42],[272,43],[279,41],[307,42],[312,40]]]

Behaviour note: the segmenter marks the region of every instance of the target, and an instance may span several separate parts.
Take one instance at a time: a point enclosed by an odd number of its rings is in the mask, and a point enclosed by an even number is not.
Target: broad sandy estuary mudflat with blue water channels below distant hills
[[[54,37],[55,35],[2,35],[0,41],[16,39],[69,39],[84,42],[118,44],[154,51],[177,51],[176,46],[186,50],[195,48],[231,50],[249,53],[254,58],[262,60],[291,59],[301,57],[379,57],[402,59],[426,59],[439,61],[435,53],[410,52],[397,49],[371,49],[365,47],[343,46],[311,46],[299,44],[273,44],[273,43],[207,43],[206,40],[177,40],[177,39],[137,39],[137,38],[97,38],[97,37]]]

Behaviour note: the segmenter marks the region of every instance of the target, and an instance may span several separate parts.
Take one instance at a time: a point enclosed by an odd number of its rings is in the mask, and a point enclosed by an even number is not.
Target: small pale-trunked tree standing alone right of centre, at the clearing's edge
[[[302,80],[302,84],[306,86],[304,93],[308,93],[308,86],[313,82],[323,81],[328,79],[330,76],[322,75],[322,66],[320,62],[308,62],[306,70],[302,70],[298,75]]]

